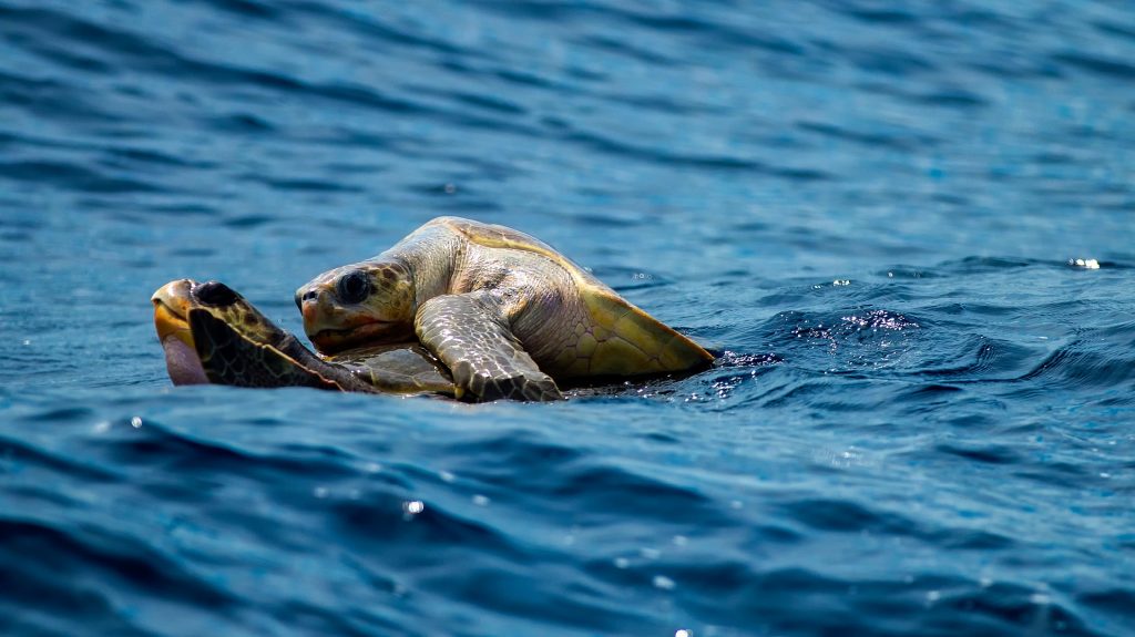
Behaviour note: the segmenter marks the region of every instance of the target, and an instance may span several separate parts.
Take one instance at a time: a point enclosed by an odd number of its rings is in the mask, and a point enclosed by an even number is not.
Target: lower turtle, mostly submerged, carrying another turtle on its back
[[[217,281],[170,281],[152,300],[154,326],[174,384],[462,393],[445,367],[417,342],[356,349],[322,359]]]

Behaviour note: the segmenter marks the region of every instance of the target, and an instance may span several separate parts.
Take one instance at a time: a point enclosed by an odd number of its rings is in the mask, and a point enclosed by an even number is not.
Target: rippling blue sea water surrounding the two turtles
[[[1127,2],[0,0],[0,632],[1133,635],[1133,213]],[[725,354],[169,387],[438,214]]]

